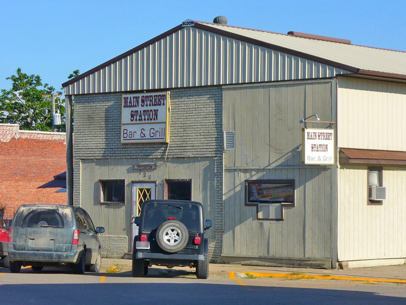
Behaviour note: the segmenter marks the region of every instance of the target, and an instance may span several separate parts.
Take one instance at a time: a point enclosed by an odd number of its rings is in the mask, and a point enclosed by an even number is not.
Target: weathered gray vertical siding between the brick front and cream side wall
[[[236,138],[224,158],[224,256],[322,259],[336,252],[335,169],[301,164],[299,124],[314,113],[334,120],[331,87],[324,80],[223,88],[224,130]],[[257,220],[256,208],[245,206],[247,179],[295,180],[295,206],[284,207],[283,221]]]

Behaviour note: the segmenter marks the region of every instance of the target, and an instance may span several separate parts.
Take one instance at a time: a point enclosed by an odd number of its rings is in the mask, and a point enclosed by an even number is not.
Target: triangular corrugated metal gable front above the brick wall
[[[348,71],[184,27],[67,86],[89,94],[333,77]]]

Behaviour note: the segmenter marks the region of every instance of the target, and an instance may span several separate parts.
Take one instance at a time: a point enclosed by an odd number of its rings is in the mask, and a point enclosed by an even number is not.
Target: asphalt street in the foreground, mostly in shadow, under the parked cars
[[[317,279],[231,279],[211,272],[198,280],[193,270],[150,268],[132,278],[129,266],[115,273],[72,274],[69,269],[0,268],[4,304],[406,304],[406,285]]]

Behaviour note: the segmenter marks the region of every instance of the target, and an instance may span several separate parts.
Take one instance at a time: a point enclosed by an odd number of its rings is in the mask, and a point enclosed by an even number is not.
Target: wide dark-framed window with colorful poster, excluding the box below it
[[[248,202],[293,203],[292,183],[249,182]]]

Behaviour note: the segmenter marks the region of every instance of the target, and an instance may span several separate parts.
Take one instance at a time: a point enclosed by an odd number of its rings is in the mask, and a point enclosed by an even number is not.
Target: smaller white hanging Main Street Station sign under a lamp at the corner
[[[334,164],[334,130],[302,129],[302,162],[304,164]]]

